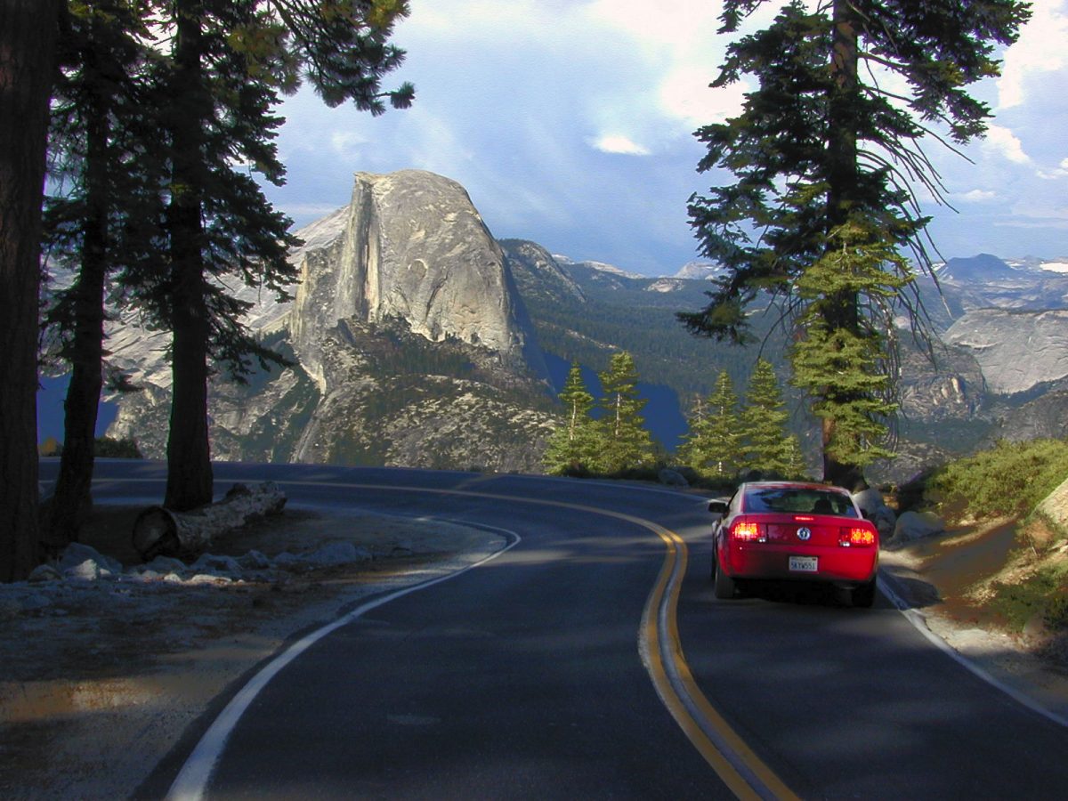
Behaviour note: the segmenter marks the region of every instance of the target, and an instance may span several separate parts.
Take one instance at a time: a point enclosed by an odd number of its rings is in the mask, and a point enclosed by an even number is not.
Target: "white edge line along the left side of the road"
[[[443,581],[449,581],[450,579],[455,579],[457,576],[484,565],[487,562],[497,559],[501,554],[506,553],[521,541],[521,537],[516,532],[508,529],[499,529],[492,525],[484,525],[482,523],[476,524],[461,520],[445,520],[444,518],[438,519],[441,519],[443,522],[454,522],[484,531],[501,533],[508,536],[512,541],[501,550],[494,551],[488,556],[461,567],[458,570],[454,570],[447,576],[439,576],[436,579],[430,579],[420,584],[413,584],[367,601],[366,603],[357,607],[351,612],[339,617],[336,621],[328,623],[326,626],[305,634],[284,651],[274,657],[274,659],[272,659],[263,670],[256,673],[256,675],[253,676],[240,689],[240,691],[238,691],[238,693],[230,700],[230,703],[226,704],[225,708],[219,713],[219,717],[215,719],[210,726],[208,726],[208,729],[204,733],[192,753],[186,759],[182,770],[178,771],[178,775],[175,776],[173,784],[171,784],[171,789],[167,794],[168,801],[200,801],[200,799],[204,797],[208,780],[211,778],[211,772],[215,770],[215,766],[222,754],[222,750],[226,745],[226,740],[230,738],[230,735],[237,725],[237,722],[241,719],[241,716],[249,708],[249,705],[252,704],[256,695],[260,694],[260,691],[263,690],[283,668],[308,650],[308,648],[314,643],[321,640],[331,631],[351,623],[373,609],[377,609],[378,607],[389,603],[392,600],[396,600],[405,595],[419,592],[420,590],[426,590],[427,587],[440,584]]]

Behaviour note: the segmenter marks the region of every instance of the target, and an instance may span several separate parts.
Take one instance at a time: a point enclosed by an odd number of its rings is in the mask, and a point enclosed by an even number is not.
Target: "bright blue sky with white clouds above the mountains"
[[[770,18],[774,3],[754,23]],[[702,125],[738,113],[747,87],[708,84],[731,38],[710,0],[411,0],[392,42],[407,51],[384,89],[408,110],[373,117],[287,98],[268,198],[297,226],[346,205],[356,172],[429,170],[459,182],[497,238],[648,274],[697,258]],[[967,158],[931,142],[952,208],[924,210],[945,258],[1068,256],[1068,0],[1036,0],[1002,76],[973,84],[993,110]]]

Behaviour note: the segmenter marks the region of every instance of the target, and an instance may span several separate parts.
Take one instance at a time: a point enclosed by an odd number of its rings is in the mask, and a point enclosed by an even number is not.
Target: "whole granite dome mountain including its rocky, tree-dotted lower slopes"
[[[553,421],[544,357],[462,187],[360,173],[352,202],[298,235],[295,299],[260,299],[248,320],[295,365],[248,386],[214,381],[215,458],[539,468]],[[144,391],[120,399],[109,435],[151,457],[166,447],[168,339],[132,319],[112,336]]]

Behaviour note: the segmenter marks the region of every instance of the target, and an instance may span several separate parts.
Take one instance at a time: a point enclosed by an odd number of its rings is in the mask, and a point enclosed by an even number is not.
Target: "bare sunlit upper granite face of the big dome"
[[[544,372],[500,246],[467,191],[419,170],[357,173],[344,227],[301,261],[290,321],[301,364],[324,383],[321,342],[339,320],[404,320],[502,364]]]

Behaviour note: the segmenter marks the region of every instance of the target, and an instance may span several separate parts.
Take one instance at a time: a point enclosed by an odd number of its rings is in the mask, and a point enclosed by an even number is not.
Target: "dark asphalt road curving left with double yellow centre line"
[[[162,477],[157,464],[98,461],[94,491],[158,501]],[[700,497],[216,466],[220,489],[268,478],[294,504],[461,520],[513,547],[355,610],[274,666],[209,772],[178,773],[204,748],[189,737],[148,795],[179,776],[173,797],[221,799],[1068,796],[1068,729],[973,676],[884,599],[717,602]]]

